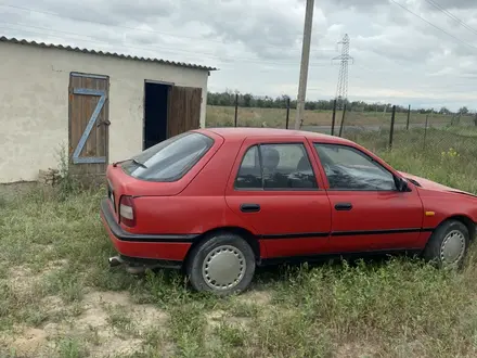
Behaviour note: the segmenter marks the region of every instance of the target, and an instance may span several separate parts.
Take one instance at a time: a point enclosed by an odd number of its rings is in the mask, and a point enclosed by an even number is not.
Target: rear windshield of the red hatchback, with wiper
[[[153,145],[127,161],[124,170],[141,180],[176,181],[182,178],[212,146],[214,140],[185,132]]]

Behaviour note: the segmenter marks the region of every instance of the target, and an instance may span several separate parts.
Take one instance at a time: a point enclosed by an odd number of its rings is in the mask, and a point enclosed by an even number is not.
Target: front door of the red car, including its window
[[[353,145],[313,143],[332,208],[332,252],[418,247],[423,205],[385,166]]]

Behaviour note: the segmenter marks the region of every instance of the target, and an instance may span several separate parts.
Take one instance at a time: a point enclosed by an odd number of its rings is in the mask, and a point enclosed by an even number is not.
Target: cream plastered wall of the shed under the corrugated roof
[[[109,163],[142,150],[144,80],[203,90],[207,71],[0,42],[0,182],[37,180],[68,146],[72,72],[109,76]]]

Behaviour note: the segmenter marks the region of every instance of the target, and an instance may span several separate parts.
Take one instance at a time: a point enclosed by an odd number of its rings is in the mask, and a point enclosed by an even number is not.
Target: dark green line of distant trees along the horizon
[[[207,93],[207,104],[209,105],[221,105],[221,106],[234,106],[235,95],[237,94],[238,106],[240,107],[258,107],[258,108],[286,108],[289,101],[289,107],[296,108],[296,100],[291,99],[288,95],[280,97],[260,97],[254,95],[252,93],[236,93],[232,91],[224,92],[208,92]],[[318,100],[318,101],[306,101],[305,108],[310,111],[322,110],[322,111],[333,111],[334,99],[331,100]],[[346,101],[346,106],[351,111],[360,112],[384,112],[390,111],[392,107],[391,103],[369,103],[364,101]],[[396,105],[397,112],[408,112],[408,106]],[[433,108],[411,108],[414,113],[431,113]],[[449,111],[447,107],[441,107],[438,111],[439,114],[470,114],[466,106],[461,107],[456,113]]]

